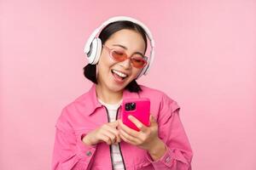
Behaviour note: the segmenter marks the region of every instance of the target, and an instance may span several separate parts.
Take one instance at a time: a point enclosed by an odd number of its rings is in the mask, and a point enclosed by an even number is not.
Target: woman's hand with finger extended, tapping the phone
[[[101,127],[87,133],[83,138],[83,142],[88,145],[98,144],[100,142],[106,142],[109,145],[118,144],[121,139],[117,127],[118,121],[105,123]]]

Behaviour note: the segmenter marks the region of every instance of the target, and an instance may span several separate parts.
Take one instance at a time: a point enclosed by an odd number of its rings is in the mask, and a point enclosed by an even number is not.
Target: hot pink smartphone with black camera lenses
[[[150,100],[148,98],[124,99],[121,106],[122,122],[136,131],[140,131],[137,126],[128,119],[128,116],[134,116],[145,126],[150,126]]]

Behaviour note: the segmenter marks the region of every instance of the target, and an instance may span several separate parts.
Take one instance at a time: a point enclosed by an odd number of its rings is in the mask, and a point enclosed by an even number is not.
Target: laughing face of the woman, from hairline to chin
[[[135,81],[136,77],[143,69],[143,65],[141,65],[140,68],[135,67],[134,62],[131,62],[131,60],[135,57],[143,59],[143,56],[137,53],[144,53],[145,42],[141,34],[137,33],[137,31],[123,29],[113,33],[104,44],[104,46],[112,48],[115,54],[111,53],[109,55],[109,51],[103,48],[102,56],[97,65],[98,82],[104,84],[104,87],[108,88],[110,91],[119,92],[119,99],[121,99],[122,89],[131,81]],[[127,50],[119,46],[114,46],[113,44],[121,44],[121,46],[126,47]],[[123,55],[129,56],[129,59],[127,59],[127,57],[125,59]],[[124,59],[117,59],[119,57]],[[116,72],[125,74],[125,79],[119,77],[119,74],[116,74]],[[135,84],[137,83],[135,82]]]

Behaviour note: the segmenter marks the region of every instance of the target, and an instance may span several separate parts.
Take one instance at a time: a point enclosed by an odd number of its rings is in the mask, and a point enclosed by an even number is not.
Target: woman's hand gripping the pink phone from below
[[[155,146],[163,144],[158,137],[158,124],[154,116],[150,115],[150,127],[146,127],[142,122],[139,122],[134,116],[128,116],[131,122],[133,122],[140,131],[131,129],[125,126],[125,124],[119,120],[119,134],[121,139],[125,142],[133,145],[137,145],[143,150],[154,150]]]

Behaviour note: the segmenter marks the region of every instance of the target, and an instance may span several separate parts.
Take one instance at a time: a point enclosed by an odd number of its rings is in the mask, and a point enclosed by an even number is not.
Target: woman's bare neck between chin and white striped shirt
[[[113,92],[101,84],[96,84],[96,94],[99,99],[107,104],[117,104],[123,97],[123,91]]]

